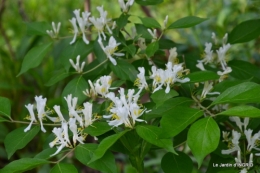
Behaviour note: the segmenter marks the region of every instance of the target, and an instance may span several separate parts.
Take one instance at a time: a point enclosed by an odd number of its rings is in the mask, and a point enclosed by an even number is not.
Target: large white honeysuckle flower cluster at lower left
[[[72,95],[68,95],[65,97],[65,100],[67,101],[68,105],[68,112],[69,112],[69,120],[66,121],[63,114],[61,113],[60,106],[55,105],[53,108],[55,112],[57,113],[57,117],[50,117],[48,114],[53,113],[52,111],[45,111],[46,106],[46,98],[42,98],[42,96],[36,96],[36,108],[38,112],[38,119],[41,124],[41,130],[43,132],[46,132],[46,130],[43,127],[42,120],[44,117],[47,117],[51,121],[57,123],[61,122],[61,127],[55,127],[52,132],[56,136],[56,138],[49,144],[50,147],[54,147],[55,145],[58,146],[57,151],[51,155],[54,156],[58,154],[64,147],[73,148],[75,147],[76,143],[84,143],[84,139],[86,137],[86,134],[83,133],[83,129],[85,127],[88,127],[91,125],[95,120],[97,120],[97,117],[93,118],[92,116],[92,104],[89,102],[84,103],[84,109],[77,109],[77,101],[78,98],[74,97],[72,98]],[[28,104],[25,106],[29,113],[30,117],[28,117],[29,120],[31,120],[29,126],[24,130],[24,132],[27,132],[30,130],[31,125],[33,122],[36,122],[35,114],[33,111],[33,105]],[[79,127],[78,127],[79,125]],[[72,132],[73,137],[73,144],[70,142],[68,129]]]

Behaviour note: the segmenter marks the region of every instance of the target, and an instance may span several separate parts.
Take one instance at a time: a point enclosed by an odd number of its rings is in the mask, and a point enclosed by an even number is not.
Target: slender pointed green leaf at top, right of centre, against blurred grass
[[[195,25],[198,25],[207,20],[206,18],[199,18],[196,16],[187,16],[173,22],[167,29],[176,29],[176,28],[189,28]]]

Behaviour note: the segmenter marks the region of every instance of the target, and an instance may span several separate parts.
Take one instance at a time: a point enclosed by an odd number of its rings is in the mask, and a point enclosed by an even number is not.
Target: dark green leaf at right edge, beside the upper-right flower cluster
[[[228,66],[232,68],[230,76],[241,80],[252,78],[252,82],[260,83],[260,69],[257,66],[241,60],[230,61]]]

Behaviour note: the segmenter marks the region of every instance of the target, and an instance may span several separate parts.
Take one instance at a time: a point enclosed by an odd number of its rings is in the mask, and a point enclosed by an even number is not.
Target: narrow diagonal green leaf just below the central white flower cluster
[[[126,132],[128,132],[128,130],[122,131],[120,133],[111,135],[106,137],[105,139],[103,139],[101,141],[101,143],[99,144],[98,148],[95,150],[93,157],[91,158],[91,160],[89,161],[89,164],[102,158],[104,156],[104,154],[106,153],[106,151],[121,137],[123,136]]]

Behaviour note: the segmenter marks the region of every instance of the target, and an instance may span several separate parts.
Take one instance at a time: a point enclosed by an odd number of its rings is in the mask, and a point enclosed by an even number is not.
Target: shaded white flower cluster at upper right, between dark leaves
[[[209,64],[209,65],[213,65],[213,64],[220,64],[221,65],[221,69],[223,71],[218,71],[217,74],[220,76],[219,81],[222,81],[227,74],[232,72],[231,67],[227,66],[227,59],[226,59],[226,53],[229,50],[229,48],[231,47],[231,45],[227,42],[227,37],[228,35],[225,34],[223,41],[222,41],[222,46],[216,50],[217,52],[217,59],[214,58],[214,54],[213,54],[213,50],[212,50],[212,43],[205,43],[205,49],[204,49],[204,57],[203,60],[198,60],[198,64],[196,65],[196,67],[198,67],[200,70],[204,71],[206,70],[204,65]],[[215,36],[215,33],[212,33],[212,39],[214,41],[215,44],[217,44],[217,39]]]

